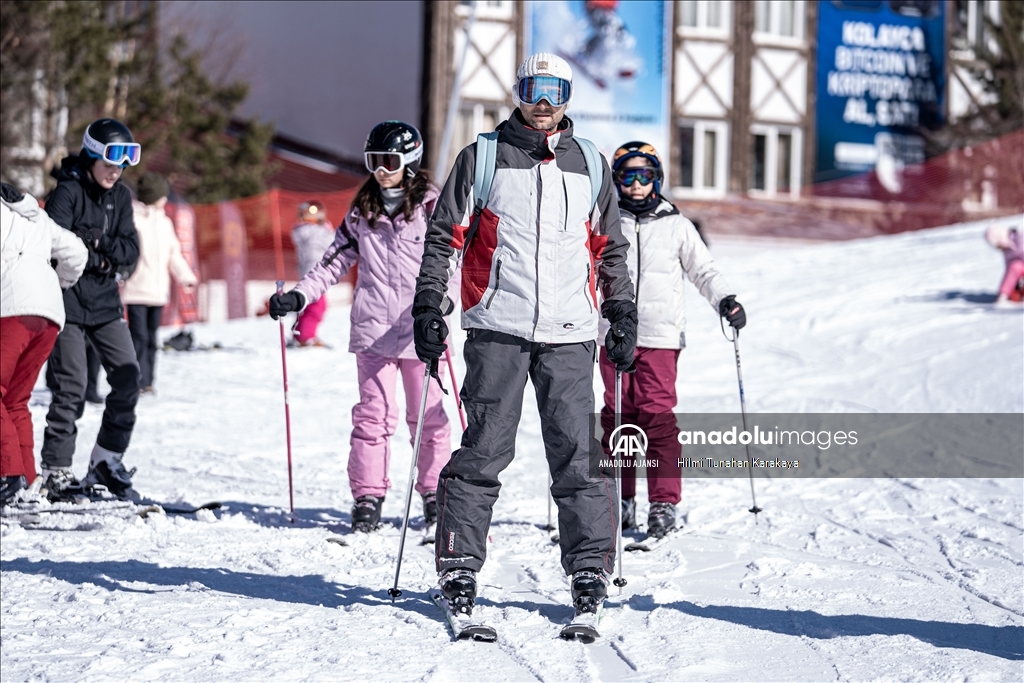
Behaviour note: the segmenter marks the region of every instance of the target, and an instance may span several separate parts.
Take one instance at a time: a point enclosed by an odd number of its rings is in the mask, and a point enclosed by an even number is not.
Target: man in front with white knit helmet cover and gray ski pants
[[[474,145],[464,148],[437,202],[413,302],[416,350],[444,352],[443,301],[462,260],[462,326],[467,330],[462,400],[468,428],[437,483],[436,563],[452,611],[470,614],[485,558],[499,474],[515,455],[526,378],[534,383],[551,493],[558,506],[562,567],[577,614],[596,613],[607,593],[618,523],[614,483],[592,476],[593,373],[601,314],[611,326],[607,355],[633,362],[637,312],[607,162],[596,202],[587,141],[573,139],[565,109],[572,71],[550,53],[520,65],[518,109],[498,126],[487,196],[477,197]],[[482,193],[481,193],[482,194]],[[475,208],[474,208],[475,207]]]

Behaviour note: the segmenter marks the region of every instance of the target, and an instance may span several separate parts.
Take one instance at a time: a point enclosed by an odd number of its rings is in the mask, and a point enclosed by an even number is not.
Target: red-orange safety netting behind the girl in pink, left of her
[[[345,217],[358,188],[335,193],[294,193],[271,189],[262,195],[234,200],[245,222],[248,246],[248,280],[296,281],[295,246],[292,244],[292,226],[298,222],[299,205],[315,200],[327,209],[327,220],[337,225]],[[220,205],[196,204],[196,244],[199,250],[201,279],[222,280],[223,250],[220,229]],[[355,269],[346,280],[352,281]]]

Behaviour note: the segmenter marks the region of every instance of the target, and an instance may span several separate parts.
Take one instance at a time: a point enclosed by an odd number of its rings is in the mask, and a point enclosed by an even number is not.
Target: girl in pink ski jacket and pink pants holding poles
[[[407,145],[411,148],[406,150]],[[413,348],[410,311],[423,258],[423,237],[438,191],[419,169],[422,154],[422,138],[413,126],[388,121],[374,128],[366,155],[373,175],[353,200],[333,244],[294,290],[271,297],[271,315],[284,314],[285,309],[301,311],[340,282],[356,262],[359,264],[348,346],[355,353],[359,401],[352,409],[348,479],[355,499],[352,525],[361,531],[380,524],[381,506],[391,486],[388,466],[390,438],[398,423],[398,376],[412,434],[416,433],[423,391],[425,366]],[[389,172],[390,168],[394,170]],[[390,186],[392,183],[399,184]],[[456,284],[453,291],[458,288]],[[296,295],[298,301],[292,298]],[[436,517],[437,475],[452,455],[452,430],[441,395],[437,383],[431,382],[416,479],[427,523]]]

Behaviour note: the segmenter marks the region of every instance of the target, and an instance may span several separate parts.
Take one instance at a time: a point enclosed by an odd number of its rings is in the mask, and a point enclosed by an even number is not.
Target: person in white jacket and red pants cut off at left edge
[[[29,397],[63,328],[61,289],[78,282],[89,252],[7,183],[0,183],[0,505],[7,505],[36,479]]]

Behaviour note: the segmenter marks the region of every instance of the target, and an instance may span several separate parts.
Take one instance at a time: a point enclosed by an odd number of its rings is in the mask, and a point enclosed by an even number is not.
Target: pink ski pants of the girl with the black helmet
[[[356,353],[359,402],[352,408],[351,451],[348,455],[348,483],[352,497],[384,496],[391,487],[391,437],[398,427],[395,384],[401,374],[406,391],[406,424],[410,442],[416,436],[416,420],[423,392],[425,366],[417,358],[385,358],[375,353]],[[436,382],[427,391],[423,416],[423,439],[417,463],[416,490],[420,495],[437,489],[437,475],[452,457],[452,427],[441,405]]]

